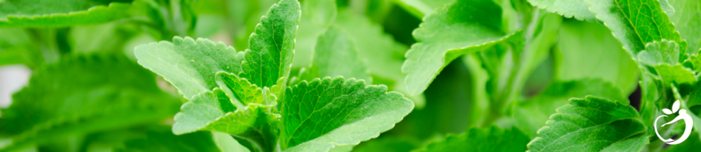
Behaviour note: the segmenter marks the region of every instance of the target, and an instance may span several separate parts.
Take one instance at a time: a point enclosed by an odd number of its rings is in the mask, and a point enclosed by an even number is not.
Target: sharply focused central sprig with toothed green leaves
[[[338,67],[323,62],[340,56],[333,53],[354,51],[348,38],[333,28],[322,36],[331,42],[320,41],[323,52],[303,76],[313,80],[287,87],[299,10],[294,0],[273,5],[245,52],[200,38],[138,46],[139,64],[163,76],[189,100],[175,116],[173,132],[226,132],[251,151],[328,151],[377,137],[413,109],[411,100],[388,93],[386,86],[343,77],[313,79],[347,74],[334,74],[329,69]],[[339,46],[345,49],[330,49]]]

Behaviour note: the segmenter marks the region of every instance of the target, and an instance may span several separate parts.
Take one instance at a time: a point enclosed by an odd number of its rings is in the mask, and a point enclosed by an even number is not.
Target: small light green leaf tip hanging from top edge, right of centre
[[[399,6],[418,18],[423,18],[436,12],[436,8],[455,3],[456,0],[399,0]]]

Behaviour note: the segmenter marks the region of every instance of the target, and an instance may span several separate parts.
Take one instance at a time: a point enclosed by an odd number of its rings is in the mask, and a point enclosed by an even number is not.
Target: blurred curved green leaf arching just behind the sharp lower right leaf
[[[628,98],[622,90],[601,79],[578,79],[551,83],[538,96],[519,102],[513,109],[512,116],[516,125],[530,137],[537,137],[537,131],[545,126],[555,109],[567,105],[570,98],[599,96],[610,98],[622,105],[628,105]]]

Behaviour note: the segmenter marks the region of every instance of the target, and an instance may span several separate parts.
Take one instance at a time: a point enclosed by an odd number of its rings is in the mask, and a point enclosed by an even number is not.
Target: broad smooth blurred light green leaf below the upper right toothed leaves
[[[623,89],[623,94],[635,91],[638,65],[611,36],[606,26],[566,20],[559,29],[557,44],[553,54],[555,79],[602,79]]]

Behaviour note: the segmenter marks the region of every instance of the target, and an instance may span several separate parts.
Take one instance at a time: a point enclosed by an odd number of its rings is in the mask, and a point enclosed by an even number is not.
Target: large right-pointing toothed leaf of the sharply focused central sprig
[[[414,102],[386,86],[343,77],[302,81],[282,102],[280,147],[285,151],[328,151],[377,137],[414,109]]]

